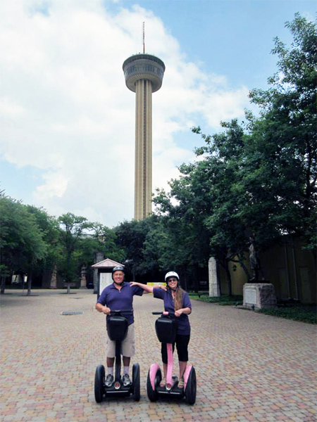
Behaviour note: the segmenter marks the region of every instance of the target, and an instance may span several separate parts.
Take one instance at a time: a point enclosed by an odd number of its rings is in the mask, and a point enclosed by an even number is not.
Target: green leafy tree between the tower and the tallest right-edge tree
[[[181,165],[180,178],[170,181],[170,193],[161,191],[154,202],[174,232],[174,245],[180,245],[178,264],[193,273],[195,268],[206,267],[211,255],[216,257],[226,271],[231,293],[228,263],[238,257],[244,265],[245,229],[232,188],[237,184],[244,132],[236,120],[223,127],[225,132],[213,136],[201,134],[200,127],[192,129],[206,142],[196,151],[204,159]]]

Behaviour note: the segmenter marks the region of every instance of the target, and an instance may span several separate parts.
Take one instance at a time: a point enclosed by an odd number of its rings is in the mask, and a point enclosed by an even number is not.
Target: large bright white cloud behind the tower
[[[147,51],[166,64],[153,96],[154,188],[166,187],[177,177],[175,165],[194,158],[175,134],[197,116],[210,132],[240,117],[248,90],[230,90],[224,75],[201,72],[151,11],[134,6],[111,15],[103,5],[1,1],[1,155],[42,170],[35,205],[112,226],[133,217],[135,95],[122,65],[142,50],[142,22]]]

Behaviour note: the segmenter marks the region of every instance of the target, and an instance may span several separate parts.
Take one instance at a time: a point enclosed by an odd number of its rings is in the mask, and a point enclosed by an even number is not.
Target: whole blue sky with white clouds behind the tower
[[[153,188],[201,145],[190,128],[244,116],[276,70],[273,38],[315,1],[1,0],[0,188],[50,215],[116,226],[134,209],[135,94],[122,65],[166,65],[153,95]]]

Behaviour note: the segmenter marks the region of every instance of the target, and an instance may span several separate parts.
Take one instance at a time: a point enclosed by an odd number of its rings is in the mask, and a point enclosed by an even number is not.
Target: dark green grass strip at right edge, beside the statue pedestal
[[[293,321],[302,321],[308,324],[317,324],[316,305],[285,305],[284,307],[258,309],[256,312],[292,319]]]

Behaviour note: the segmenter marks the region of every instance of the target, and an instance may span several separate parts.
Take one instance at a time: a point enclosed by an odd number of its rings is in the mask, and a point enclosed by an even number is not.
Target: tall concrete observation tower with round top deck
[[[150,54],[125,60],[125,84],[135,96],[135,219],[151,214],[152,196],[152,92],[159,91],[165,65]]]

